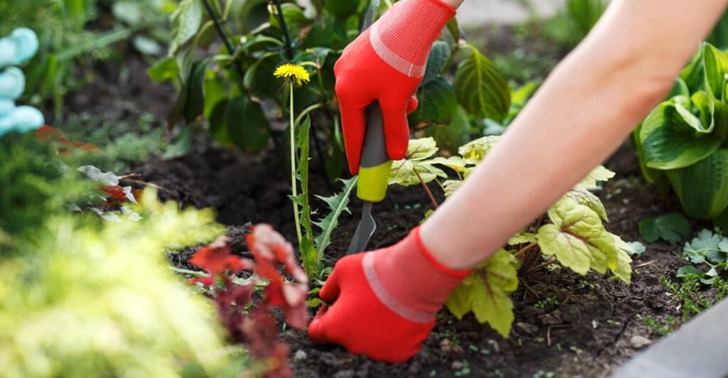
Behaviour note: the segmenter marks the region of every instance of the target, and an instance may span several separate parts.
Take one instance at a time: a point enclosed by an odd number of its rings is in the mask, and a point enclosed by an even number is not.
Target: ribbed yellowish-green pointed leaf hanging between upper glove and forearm
[[[510,108],[510,92],[503,76],[478,49],[460,63],[453,86],[458,102],[480,118],[502,119]]]

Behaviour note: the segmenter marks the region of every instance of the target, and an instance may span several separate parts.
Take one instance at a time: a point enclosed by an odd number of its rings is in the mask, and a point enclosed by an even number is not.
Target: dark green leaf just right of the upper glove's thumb
[[[419,106],[408,116],[411,125],[450,124],[456,110],[455,89],[443,76],[430,80],[417,89]]]

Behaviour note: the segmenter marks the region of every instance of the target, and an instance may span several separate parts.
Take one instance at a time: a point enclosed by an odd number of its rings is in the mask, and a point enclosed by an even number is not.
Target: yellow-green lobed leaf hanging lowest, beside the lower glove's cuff
[[[496,252],[457,286],[445,303],[448,310],[457,318],[472,311],[480,323],[508,337],[514,318],[510,294],[518,289],[517,264],[510,252]]]

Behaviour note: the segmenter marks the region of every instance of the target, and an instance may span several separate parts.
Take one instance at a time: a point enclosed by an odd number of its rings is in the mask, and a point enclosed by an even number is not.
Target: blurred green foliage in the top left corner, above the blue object
[[[18,27],[36,31],[39,54],[23,70],[23,100],[41,107],[52,100],[56,118],[63,97],[95,79],[92,65],[132,41],[143,53],[159,54],[165,42],[165,9],[172,0],[5,0],[0,1],[0,36]],[[42,107],[41,107],[42,108]]]

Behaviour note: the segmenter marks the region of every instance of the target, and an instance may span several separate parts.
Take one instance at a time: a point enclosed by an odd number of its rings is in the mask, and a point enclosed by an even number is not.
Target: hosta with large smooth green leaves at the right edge
[[[665,177],[689,217],[719,225],[728,208],[727,73],[728,55],[703,44],[634,132],[646,179]]]

